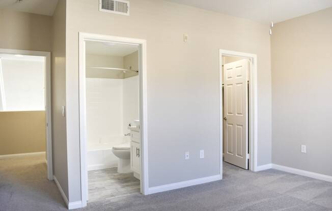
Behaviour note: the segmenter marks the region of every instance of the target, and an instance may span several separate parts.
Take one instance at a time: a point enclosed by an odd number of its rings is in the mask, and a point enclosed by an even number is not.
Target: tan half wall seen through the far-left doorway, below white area
[[[0,112],[0,155],[45,152],[45,112]]]

